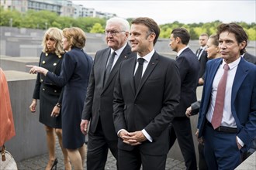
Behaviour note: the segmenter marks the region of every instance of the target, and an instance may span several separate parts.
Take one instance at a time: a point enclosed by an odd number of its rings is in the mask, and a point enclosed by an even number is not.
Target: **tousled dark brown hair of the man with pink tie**
[[[238,43],[245,41],[246,44],[244,46],[244,49],[240,49],[240,54],[243,54],[243,53],[246,52],[245,47],[247,46],[248,36],[247,36],[246,32],[244,31],[243,27],[237,25],[234,22],[231,22],[229,24],[221,24],[217,28],[218,39],[220,39],[220,33],[221,32],[234,33],[235,38],[237,39]]]

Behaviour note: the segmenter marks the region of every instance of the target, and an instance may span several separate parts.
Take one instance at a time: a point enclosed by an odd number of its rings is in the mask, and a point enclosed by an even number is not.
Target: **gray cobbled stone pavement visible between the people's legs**
[[[64,170],[64,160],[60,146],[57,144],[56,148],[57,156],[57,170]],[[48,162],[48,155],[40,155],[34,158],[29,158],[21,162],[17,162],[19,170],[44,170]],[[85,164],[86,169],[86,164]],[[109,157],[106,162],[106,170],[116,170],[116,160],[109,151]],[[185,169],[184,162],[168,158],[166,162],[166,170],[182,170]]]

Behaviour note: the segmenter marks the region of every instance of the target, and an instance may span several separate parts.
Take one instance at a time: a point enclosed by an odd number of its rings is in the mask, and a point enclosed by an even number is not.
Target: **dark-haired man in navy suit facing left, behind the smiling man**
[[[192,138],[190,119],[186,117],[186,109],[196,101],[196,87],[199,74],[199,60],[187,46],[189,43],[189,32],[186,29],[178,28],[171,32],[170,46],[177,52],[176,61],[178,63],[181,76],[181,100],[175,109],[175,118],[170,124],[170,145],[174,145],[178,138],[178,145],[182,150],[187,169],[197,169],[195,148]]]

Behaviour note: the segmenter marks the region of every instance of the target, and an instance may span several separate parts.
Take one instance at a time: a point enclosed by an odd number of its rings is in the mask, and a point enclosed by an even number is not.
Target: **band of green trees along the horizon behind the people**
[[[133,19],[127,19],[132,22]],[[206,23],[192,23],[184,24],[178,21],[160,25],[161,33],[160,38],[169,38],[171,30],[184,27],[188,29],[191,39],[198,39],[199,36],[206,32],[208,35],[216,33],[217,26],[222,23],[220,20]],[[246,22],[237,22],[247,32],[249,40],[256,40],[256,23],[248,24]],[[26,13],[21,13],[16,10],[5,10],[0,8],[0,26],[13,26],[19,28],[31,29],[47,29],[49,27],[57,27],[64,29],[68,27],[79,27],[85,32],[103,33],[106,26],[106,19],[80,17],[74,19],[72,17],[60,16],[57,13],[49,11],[33,11],[29,10]]]

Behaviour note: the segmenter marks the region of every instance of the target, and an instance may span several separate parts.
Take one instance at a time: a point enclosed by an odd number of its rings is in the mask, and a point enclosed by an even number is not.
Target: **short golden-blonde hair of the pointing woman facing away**
[[[72,47],[82,49],[85,46],[85,32],[78,27],[63,29],[63,36]]]

